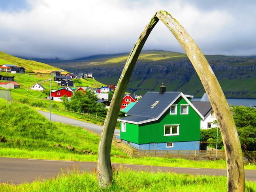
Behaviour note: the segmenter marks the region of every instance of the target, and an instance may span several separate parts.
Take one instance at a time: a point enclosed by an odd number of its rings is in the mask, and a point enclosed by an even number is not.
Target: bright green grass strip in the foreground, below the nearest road
[[[226,177],[177,173],[152,173],[121,169],[113,174],[113,184],[98,186],[95,172],[80,172],[78,168],[64,170],[56,178],[38,179],[33,183],[0,184],[2,192],[224,192]],[[256,190],[255,182],[245,182],[245,192]]]

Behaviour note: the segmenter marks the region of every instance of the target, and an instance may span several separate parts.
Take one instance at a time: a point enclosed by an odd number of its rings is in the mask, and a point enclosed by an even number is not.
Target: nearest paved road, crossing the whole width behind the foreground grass
[[[116,169],[120,164],[113,164]],[[203,168],[177,168],[177,167],[158,167],[122,164],[122,168],[129,168],[141,171],[162,171],[175,173],[189,173],[193,175],[224,175],[226,169],[203,169]],[[30,183],[38,178],[50,179],[61,173],[62,169],[79,168],[81,171],[94,171],[97,167],[96,162],[73,162],[73,161],[51,161],[21,158],[0,158],[0,183]],[[245,170],[247,181],[256,181],[256,170]]]

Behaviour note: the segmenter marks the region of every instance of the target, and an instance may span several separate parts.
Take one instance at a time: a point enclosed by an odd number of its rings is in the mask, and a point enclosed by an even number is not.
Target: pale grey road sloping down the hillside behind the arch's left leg
[[[49,119],[49,112],[40,111],[40,110],[38,110],[38,112]],[[91,124],[91,123],[84,122],[84,121],[81,121],[81,120],[71,119],[71,118],[68,118],[68,117],[61,116],[61,115],[56,115],[54,113],[51,113],[51,120],[56,121],[56,122],[62,122],[64,124],[79,126],[81,128],[88,128],[88,129],[90,129],[90,130],[92,130],[92,131],[94,131],[98,134],[101,134],[101,132],[102,132],[102,126]],[[115,129],[114,135],[120,135],[120,130]]]

